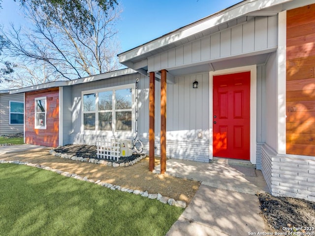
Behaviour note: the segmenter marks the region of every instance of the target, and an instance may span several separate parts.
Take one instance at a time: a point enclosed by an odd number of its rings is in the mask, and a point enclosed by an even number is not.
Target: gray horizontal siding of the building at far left
[[[24,124],[10,124],[10,101],[24,102],[24,93],[0,93],[0,135],[20,133],[24,131]]]

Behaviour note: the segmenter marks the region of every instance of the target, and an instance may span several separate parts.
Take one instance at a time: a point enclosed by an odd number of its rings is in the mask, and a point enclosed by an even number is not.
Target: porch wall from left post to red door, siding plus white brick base
[[[192,83],[198,81],[198,89]],[[166,155],[209,161],[209,72],[175,77],[166,88]],[[160,83],[156,82],[155,146],[160,154]],[[147,131],[148,132],[148,131]],[[198,132],[202,138],[198,139]]]

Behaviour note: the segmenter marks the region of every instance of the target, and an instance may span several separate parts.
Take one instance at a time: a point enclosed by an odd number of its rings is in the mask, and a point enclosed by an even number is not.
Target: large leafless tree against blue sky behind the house
[[[108,8],[104,12],[94,0],[86,0],[85,7],[93,13],[89,20],[90,30],[74,27],[63,10],[54,8],[54,21],[41,8],[25,1],[25,14],[33,28],[22,30],[13,25],[4,32],[9,42],[7,53],[23,62],[30,75],[41,65],[47,72],[46,82],[56,79],[76,79],[118,69],[119,43],[114,28],[120,16],[119,8]],[[42,70],[42,68],[41,68]],[[30,73],[31,72],[31,73]],[[31,82],[32,83],[32,82]]]

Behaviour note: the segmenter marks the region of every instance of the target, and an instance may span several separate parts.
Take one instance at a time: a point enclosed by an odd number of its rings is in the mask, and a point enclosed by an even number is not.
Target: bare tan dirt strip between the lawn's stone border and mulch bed
[[[1,159],[19,160],[49,166],[63,172],[75,173],[82,177],[120,185],[122,187],[160,193],[162,196],[185,201],[187,204],[195,195],[200,182],[168,175],[158,175],[149,171],[149,158],[146,157],[128,167],[109,167],[87,162],[73,161],[49,154],[47,149],[33,149],[1,155]],[[159,164],[156,158],[155,165]]]

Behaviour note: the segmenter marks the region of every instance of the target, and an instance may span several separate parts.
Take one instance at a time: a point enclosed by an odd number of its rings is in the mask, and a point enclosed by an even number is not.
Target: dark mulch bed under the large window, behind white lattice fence
[[[63,147],[55,148],[56,152],[66,153],[66,154],[72,154],[76,156],[81,156],[83,158],[94,158],[98,160],[104,160],[97,158],[97,152],[96,152],[96,146],[90,146],[90,145],[77,145],[77,144],[68,144]],[[131,156],[121,156],[119,158],[119,161],[116,160],[110,160],[106,159],[110,162],[116,162],[116,163],[123,163],[123,162],[130,162],[134,159],[140,157],[140,154],[133,154]]]

